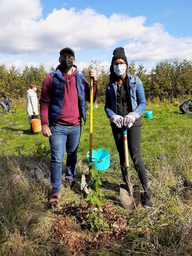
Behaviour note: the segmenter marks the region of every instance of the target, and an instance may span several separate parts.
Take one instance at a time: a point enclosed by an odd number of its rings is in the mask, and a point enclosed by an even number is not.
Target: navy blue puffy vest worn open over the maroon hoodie
[[[63,106],[64,100],[64,79],[62,77],[62,73],[59,69],[57,71],[53,71],[50,73],[52,76],[52,95],[49,104],[49,112],[48,112],[48,120],[49,124],[57,124],[60,116],[61,108]],[[84,76],[79,74],[78,72],[75,74],[76,77],[76,88],[77,94],[79,97],[79,102],[81,105],[81,109],[79,109],[80,116],[83,117],[84,124],[86,122],[86,114],[85,114],[85,80]]]

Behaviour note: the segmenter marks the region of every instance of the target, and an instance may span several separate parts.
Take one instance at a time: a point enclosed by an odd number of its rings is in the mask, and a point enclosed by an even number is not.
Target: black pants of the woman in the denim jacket
[[[125,178],[125,156],[124,156],[124,140],[123,131],[121,128],[117,128],[116,125],[111,126],[113,137],[115,139],[116,147],[119,153],[119,160],[121,166],[121,172],[123,180],[126,183]],[[127,143],[129,154],[139,176],[140,182],[144,191],[148,190],[147,172],[145,165],[141,157],[141,126],[133,126],[127,129]]]

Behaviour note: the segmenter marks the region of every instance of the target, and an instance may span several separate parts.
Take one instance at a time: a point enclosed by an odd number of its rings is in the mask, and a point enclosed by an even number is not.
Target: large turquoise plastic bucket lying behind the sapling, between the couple
[[[89,163],[89,151],[87,152],[87,161]],[[100,162],[101,161],[101,162]],[[100,163],[98,163],[100,162]],[[105,171],[110,165],[110,153],[107,148],[100,148],[97,151],[92,150],[92,163],[98,171]]]

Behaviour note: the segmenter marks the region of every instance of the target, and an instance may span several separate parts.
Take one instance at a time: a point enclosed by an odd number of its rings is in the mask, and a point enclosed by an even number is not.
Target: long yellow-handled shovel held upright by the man
[[[92,163],[92,139],[93,139],[93,79],[90,81],[90,122],[89,122],[89,163]],[[89,171],[92,169],[92,165],[89,165]],[[91,173],[82,174],[81,177],[81,190],[89,194],[91,189],[87,188],[86,184],[91,180]]]

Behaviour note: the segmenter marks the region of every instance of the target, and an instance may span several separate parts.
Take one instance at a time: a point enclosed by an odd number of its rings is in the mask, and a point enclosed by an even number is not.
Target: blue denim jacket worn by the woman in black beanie
[[[129,97],[132,103],[132,111],[136,112],[140,116],[144,113],[146,108],[146,99],[145,93],[143,89],[143,84],[138,76],[130,75],[126,73],[127,86]],[[110,118],[113,115],[117,114],[117,100],[116,100],[116,93],[117,93],[117,84],[109,82],[106,87],[105,92],[105,112],[107,117]]]

